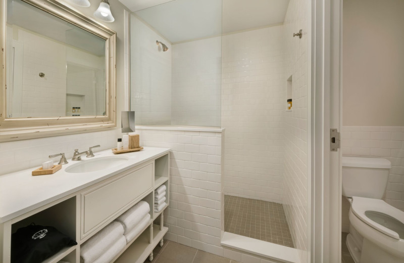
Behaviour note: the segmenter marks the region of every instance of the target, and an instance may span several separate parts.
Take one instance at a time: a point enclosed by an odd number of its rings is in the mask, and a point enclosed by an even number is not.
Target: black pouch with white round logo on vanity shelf
[[[31,224],[11,235],[11,262],[37,263],[77,242],[54,227]]]

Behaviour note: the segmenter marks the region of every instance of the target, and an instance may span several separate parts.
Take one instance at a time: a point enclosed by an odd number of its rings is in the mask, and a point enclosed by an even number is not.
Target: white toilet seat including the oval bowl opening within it
[[[352,211],[363,222],[395,239],[404,239],[404,212],[383,200],[352,197]]]

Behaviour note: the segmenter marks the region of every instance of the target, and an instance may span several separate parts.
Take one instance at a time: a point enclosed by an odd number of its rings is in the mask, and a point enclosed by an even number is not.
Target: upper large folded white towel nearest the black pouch
[[[93,262],[111,247],[113,242],[121,237],[123,233],[122,224],[112,222],[81,245],[80,261],[83,263]]]

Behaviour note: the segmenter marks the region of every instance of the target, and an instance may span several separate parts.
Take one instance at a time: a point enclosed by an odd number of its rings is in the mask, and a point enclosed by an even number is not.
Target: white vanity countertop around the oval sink
[[[81,158],[82,160],[90,160],[105,156],[125,156],[128,157],[128,162],[99,171],[69,173],[65,169],[80,162],[69,159],[69,163],[64,164],[62,169],[54,174],[32,176],[31,172],[38,168],[32,167],[0,176],[0,223],[108,179],[169,151],[168,148],[144,147],[139,152],[116,155],[109,149],[96,152],[94,153],[95,156],[91,158],[87,158],[85,155]]]

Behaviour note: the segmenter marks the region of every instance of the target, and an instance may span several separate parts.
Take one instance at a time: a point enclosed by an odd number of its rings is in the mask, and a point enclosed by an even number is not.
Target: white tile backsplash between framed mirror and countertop
[[[121,129],[110,129],[94,133],[0,143],[0,176],[40,166],[43,162],[51,160],[48,157],[51,154],[65,153],[66,158],[69,159],[73,157],[74,149],[79,149],[81,152],[98,144],[100,148],[94,148],[94,152],[111,149],[117,147],[117,139],[121,136]],[[58,163],[60,156],[53,160]]]

